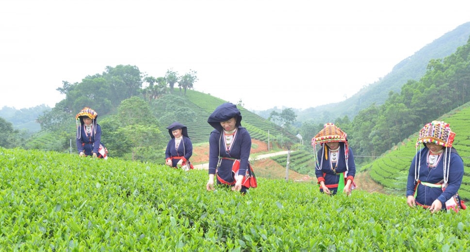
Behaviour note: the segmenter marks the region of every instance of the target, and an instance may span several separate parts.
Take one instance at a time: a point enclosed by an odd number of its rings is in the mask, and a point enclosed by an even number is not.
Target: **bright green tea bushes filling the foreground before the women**
[[[21,167],[22,169],[18,169]],[[5,251],[467,251],[470,211],[322,194],[259,178],[244,196],[207,171],[0,148]],[[384,207],[385,206],[385,207]]]

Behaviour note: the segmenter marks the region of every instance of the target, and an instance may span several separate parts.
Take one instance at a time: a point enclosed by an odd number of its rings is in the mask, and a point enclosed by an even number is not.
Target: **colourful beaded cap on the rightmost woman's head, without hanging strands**
[[[452,132],[449,124],[442,121],[432,121],[424,125],[420,130],[420,136],[416,141],[416,146],[421,143],[432,142],[444,147],[452,147],[455,133]]]

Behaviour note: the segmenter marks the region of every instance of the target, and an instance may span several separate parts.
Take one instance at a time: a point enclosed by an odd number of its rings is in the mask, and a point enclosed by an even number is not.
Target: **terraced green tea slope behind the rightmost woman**
[[[457,149],[464,161],[464,177],[459,189],[459,195],[466,201],[470,200],[470,103],[450,111],[436,120],[450,124],[455,132],[453,146]],[[382,157],[366,165],[364,169],[370,170],[372,178],[384,187],[399,194],[404,194],[406,179],[411,160],[416,154],[415,143],[418,132],[409,136],[404,142],[394,146]]]

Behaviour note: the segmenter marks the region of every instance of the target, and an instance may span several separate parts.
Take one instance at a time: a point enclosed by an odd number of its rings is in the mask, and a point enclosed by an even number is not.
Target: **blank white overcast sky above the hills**
[[[338,102],[470,21],[469,0],[2,0],[0,108],[54,107],[106,66],[250,110]]]

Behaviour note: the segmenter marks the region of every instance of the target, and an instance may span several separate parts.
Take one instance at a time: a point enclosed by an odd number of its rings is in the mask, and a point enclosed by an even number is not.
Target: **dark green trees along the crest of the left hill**
[[[121,101],[135,95],[142,94],[150,100],[158,99],[168,92],[173,93],[176,83],[180,91],[184,90],[186,93],[186,90],[193,88],[194,82],[198,80],[196,74],[196,71],[190,70],[178,76],[178,72],[169,69],[164,77],[155,78],[143,74],[137,66],[107,66],[102,74],[87,76],[80,83],[71,84],[68,81],[62,81],[63,85],[57,88],[57,91],[65,94],[65,99],[56,107],[68,112],[91,107],[101,114],[107,114],[119,106]],[[144,84],[147,84],[145,88],[143,88]],[[39,122],[41,126],[48,124],[44,117],[40,118]]]

